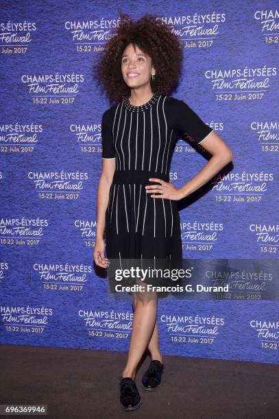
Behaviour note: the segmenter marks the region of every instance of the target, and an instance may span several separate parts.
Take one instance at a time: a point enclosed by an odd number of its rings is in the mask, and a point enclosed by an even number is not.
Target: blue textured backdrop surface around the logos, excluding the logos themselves
[[[186,251],[184,257],[201,259],[199,268],[206,269],[206,259],[252,259],[252,267],[272,270],[278,267],[276,253],[262,253],[250,224],[278,225],[278,151],[263,152],[256,133],[250,129],[252,121],[278,120],[278,75],[269,78],[270,87],[255,101],[217,101],[210,80],[204,76],[211,69],[276,67],[278,73],[278,43],[265,43],[260,21],[254,19],[256,10],[276,10],[276,1],[17,1],[1,2],[1,22],[35,22],[32,42],[25,54],[1,55],[0,127],[19,123],[38,124],[43,132],[32,153],[0,153],[0,218],[42,218],[49,222],[44,228],[38,246],[19,246],[0,243],[0,262],[8,264],[3,270],[1,287],[2,344],[22,344],[127,351],[129,334],[117,337],[88,335],[88,327],[79,316],[80,310],[129,314],[130,299],[113,299],[108,294],[104,272],[93,268],[93,244],[85,245],[75,220],[96,220],[97,184],[101,174],[101,138],[96,140],[92,152],[82,153],[71,124],[96,124],[94,133],[100,134],[101,116],[110,107],[104,92],[93,78],[92,66],[97,51],[77,52],[66,21],[100,21],[114,23],[118,11],[132,18],[154,13],[162,18],[193,14],[223,13],[226,21],[219,23],[219,33],[210,47],[184,49],[184,72],[179,88],[171,95],[183,99],[225,140],[234,153],[230,173],[273,173],[274,180],[267,183],[267,191],[258,202],[218,202],[209,188],[201,188],[191,199],[180,203],[182,223],[221,223],[223,231],[217,233],[213,249]],[[278,23],[278,19],[276,20]],[[205,27],[213,27],[206,23]],[[175,27],[181,27],[178,23]],[[2,30],[3,32],[3,30]],[[189,38],[189,36],[187,36]],[[101,47],[101,42],[97,42]],[[4,45],[4,42],[1,42]],[[175,65],[175,63],[173,63]],[[50,105],[32,103],[31,94],[22,75],[82,74],[84,82],[73,103]],[[259,79],[264,79],[260,77]],[[220,91],[221,93],[221,91]],[[218,129],[218,125],[223,127]],[[90,133],[88,133],[90,134]],[[0,136],[3,136],[3,132]],[[0,147],[4,144],[1,141]],[[175,186],[182,186],[206,160],[201,153],[190,151],[184,140],[179,145],[187,153],[173,153],[171,172]],[[99,146],[99,147],[98,147]],[[88,180],[76,200],[40,199],[32,171],[84,172]],[[93,227],[95,234],[95,227]],[[3,235],[1,235],[3,238]],[[278,248],[277,248],[278,249]],[[204,260],[204,266],[203,261]],[[253,261],[255,260],[255,265]],[[260,260],[263,266],[260,266]],[[274,262],[273,262],[274,261]],[[266,262],[266,264],[264,263]],[[80,291],[45,290],[34,264],[72,264],[92,267]],[[275,265],[274,265],[275,264]],[[250,266],[251,265],[247,265]],[[1,271],[1,270],[0,270]],[[279,364],[279,331],[273,339],[273,348],[260,346],[261,338],[250,326],[251,320],[279,321],[278,270],[273,272],[272,293],[261,301],[216,301],[206,299],[162,299],[158,307],[158,320],[162,353],[194,357],[236,359]],[[1,277],[0,277],[1,278]],[[204,274],[193,276],[199,283]],[[269,289],[270,290],[270,289]],[[5,307],[47,307],[53,314],[47,317],[43,333],[25,333],[9,330],[4,320]],[[223,318],[224,325],[212,344],[171,342],[164,315]],[[40,317],[40,316],[38,316]],[[14,322],[11,322],[14,325]],[[121,320],[122,327],[128,320]],[[19,326],[20,327],[20,326]],[[100,328],[96,328],[100,329]],[[102,329],[106,329],[103,327]],[[125,332],[125,329],[123,329]],[[104,333],[104,331],[102,332]],[[128,331],[130,333],[130,331]],[[210,336],[209,336],[210,338]]]

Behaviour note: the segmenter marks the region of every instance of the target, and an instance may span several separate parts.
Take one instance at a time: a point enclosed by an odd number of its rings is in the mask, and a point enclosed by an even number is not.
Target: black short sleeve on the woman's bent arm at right
[[[205,140],[213,129],[206,125],[184,101],[175,98],[171,99],[173,99],[171,107],[173,128],[182,134],[189,134],[197,144]]]

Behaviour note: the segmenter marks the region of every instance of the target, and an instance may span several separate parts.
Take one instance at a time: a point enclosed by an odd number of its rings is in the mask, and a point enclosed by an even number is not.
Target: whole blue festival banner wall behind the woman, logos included
[[[93,263],[101,116],[93,64],[119,25],[154,13],[184,48],[184,100],[234,161],[179,202],[191,283],[158,302],[162,353],[279,364],[276,1],[2,1],[1,343],[127,351],[129,294]],[[173,63],[175,66],[175,63]],[[210,156],[178,138],[171,180]],[[206,288],[204,288],[206,290]],[[195,297],[193,296],[195,294]]]

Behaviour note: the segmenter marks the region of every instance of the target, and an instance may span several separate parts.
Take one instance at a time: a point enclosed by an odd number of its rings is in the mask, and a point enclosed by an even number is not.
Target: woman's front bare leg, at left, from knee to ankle
[[[157,298],[146,298],[147,294],[137,293],[134,312],[132,336],[128,353],[128,361],[122,372],[122,377],[136,377],[136,367],[154,331],[157,316]]]

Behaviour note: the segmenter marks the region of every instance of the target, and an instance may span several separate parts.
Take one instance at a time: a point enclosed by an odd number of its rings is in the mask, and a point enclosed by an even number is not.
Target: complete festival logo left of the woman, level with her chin
[[[27,86],[34,104],[67,105],[74,103],[80,93],[84,75],[72,74],[23,74],[23,86]]]

